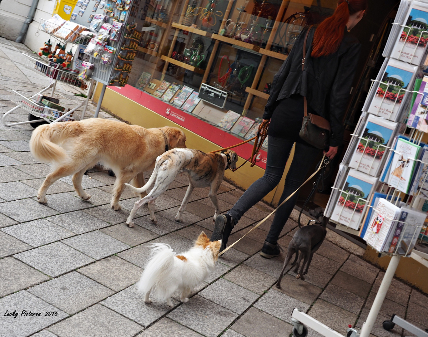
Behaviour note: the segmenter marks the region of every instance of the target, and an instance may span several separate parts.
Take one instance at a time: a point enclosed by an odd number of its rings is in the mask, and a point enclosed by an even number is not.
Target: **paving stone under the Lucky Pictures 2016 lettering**
[[[17,305],[19,303],[19,305]],[[58,308],[42,301],[36,296],[21,290],[18,293],[0,299],[0,308],[8,312],[16,310],[18,316],[3,316],[0,319],[0,331],[5,337],[25,337],[49,325],[64,319],[68,315]],[[6,312],[2,312],[4,314]],[[40,316],[21,316],[22,311],[40,313]],[[45,316],[46,311],[55,311],[56,316]]]

